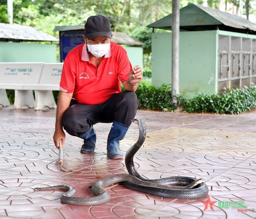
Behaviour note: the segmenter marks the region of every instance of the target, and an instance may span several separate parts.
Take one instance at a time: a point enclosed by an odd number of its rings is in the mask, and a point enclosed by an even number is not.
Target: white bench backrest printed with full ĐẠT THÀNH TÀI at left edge
[[[44,62],[0,62],[0,83],[38,84]]]

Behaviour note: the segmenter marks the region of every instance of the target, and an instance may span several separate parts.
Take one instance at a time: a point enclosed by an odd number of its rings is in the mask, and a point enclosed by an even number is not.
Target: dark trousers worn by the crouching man
[[[85,97],[86,98],[86,97]],[[114,120],[126,126],[136,115],[139,105],[137,96],[132,91],[114,94],[104,103],[84,105],[72,99],[62,119],[63,128],[72,136],[81,136],[96,123],[111,123]]]

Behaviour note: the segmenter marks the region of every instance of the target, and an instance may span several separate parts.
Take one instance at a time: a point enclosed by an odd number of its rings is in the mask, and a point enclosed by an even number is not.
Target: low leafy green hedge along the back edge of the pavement
[[[124,90],[124,88],[122,88]],[[11,104],[14,102],[14,90],[6,90]],[[53,91],[57,103],[59,91]],[[140,85],[136,90],[140,102],[139,109],[173,111],[171,85],[160,87]],[[241,89],[226,89],[219,94],[200,94],[192,99],[175,97],[179,107],[189,113],[226,113],[239,114],[256,108],[256,85],[251,84]]]

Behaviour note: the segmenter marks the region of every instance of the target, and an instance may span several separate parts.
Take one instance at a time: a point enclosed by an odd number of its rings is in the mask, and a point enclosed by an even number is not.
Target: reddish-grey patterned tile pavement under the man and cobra
[[[0,108],[0,218],[256,218],[256,110],[241,115],[138,110],[136,117],[147,125],[146,140],[134,158],[138,172],[147,178],[202,176],[213,204],[209,206],[201,202],[207,196],[161,198],[121,185],[108,188],[111,199],[96,206],[62,204],[63,191],[35,191],[69,184],[77,197],[93,196],[88,187],[98,179],[127,172],[124,160],[106,155],[111,124],[95,125],[97,148],[91,155],[80,153],[82,139],[68,135],[63,167],[76,171],[61,172],[52,140],[55,113]],[[121,150],[125,153],[137,137],[138,127],[132,124]],[[225,206],[229,201],[236,202]],[[241,205],[242,212],[232,208]]]

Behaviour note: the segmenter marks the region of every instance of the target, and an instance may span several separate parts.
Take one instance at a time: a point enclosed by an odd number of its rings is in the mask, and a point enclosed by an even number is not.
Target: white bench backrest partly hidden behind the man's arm
[[[60,84],[63,62],[45,63],[39,84]]]

